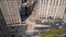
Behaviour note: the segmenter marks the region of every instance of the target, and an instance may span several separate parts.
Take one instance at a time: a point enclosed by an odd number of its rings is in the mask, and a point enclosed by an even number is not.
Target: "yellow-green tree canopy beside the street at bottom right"
[[[57,35],[62,35],[66,33],[66,28],[53,28],[50,32],[42,33],[41,37],[58,37]]]

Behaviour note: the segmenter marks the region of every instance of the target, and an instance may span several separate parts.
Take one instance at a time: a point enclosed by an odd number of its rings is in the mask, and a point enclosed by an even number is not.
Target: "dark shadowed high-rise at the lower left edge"
[[[8,27],[0,8],[0,37],[9,37]]]

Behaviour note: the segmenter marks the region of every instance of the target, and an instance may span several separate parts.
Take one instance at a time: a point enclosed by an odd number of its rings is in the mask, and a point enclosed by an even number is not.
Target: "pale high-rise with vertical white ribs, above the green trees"
[[[38,18],[64,18],[66,0],[37,0],[35,8],[33,13]]]

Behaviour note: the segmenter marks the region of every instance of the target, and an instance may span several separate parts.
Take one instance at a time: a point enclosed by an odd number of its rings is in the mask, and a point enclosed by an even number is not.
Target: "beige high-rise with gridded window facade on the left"
[[[0,0],[0,8],[7,24],[21,24],[18,0]]]

